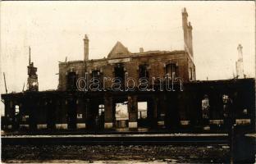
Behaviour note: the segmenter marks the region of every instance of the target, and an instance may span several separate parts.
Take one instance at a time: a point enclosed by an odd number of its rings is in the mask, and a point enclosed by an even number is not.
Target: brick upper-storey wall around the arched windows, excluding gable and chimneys
[[[122,59],[129,59],[130,62],[121,62]],[[87,72],[89,80],[92,78],[92,71],[99,71],[102,78],[114,78],[114,68],[119,63],[123,64],[124,71],[127,73],[128,77],[135,79],[136,86],[138,85],[139,81],[139,65],[142,64],[148,65],[149,84],[152,84],[153,77],[165,77],[165,66],[167,66],[169,63],[176,63],[179,72],[178,77],[180,77],[185,83],[191,81],[189,75],[190,67],[193,69],[193,71],[195,69],[194,63],[184,51],[134,54],[130,57],[114,59],[117,62],[110,62],[110,60],[112,59],[104,58],[99,60],[90,60],[89,62],[77,61],[60,63],[58,90],[66,90],[66,75],[70,71],[75,71],[78,78],[85,77],[85,72]],[[118,62],[119,60],[120,62]],[[110,88],[112,86],[112,81],[105,80],[104,84],[106,88]]]

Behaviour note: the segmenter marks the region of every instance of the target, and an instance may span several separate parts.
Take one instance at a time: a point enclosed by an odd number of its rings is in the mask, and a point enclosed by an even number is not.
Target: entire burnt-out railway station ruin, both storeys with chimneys
[[[91,60],[89,38],[85,34],[84,60],[59,63],[59,84],[53,91],[39,92],[37,68],[30,62],[28,89],[2,94],[5,104],[2,129],[202,128],[202,102],[207,97],[207,124],[211,129],[222,130],[222,98],[228,96],[232,99],[235,121],[254,130],[254,79],[196,80],[193,28],[185,8],[182,28],[183,49],[139,48],[139,52],[130,52],[118,41],[107,57]],[[89,85],[87,90],[85,85]],[[116,85],[118,89],[113,90]],[[98,86],[103,89],[94,90]],[[139,88],[145,86],[149,89]],[[126,90],[130,87],[133,90]],[[142,103],[144,107],[140,107]],[[118,107],[126,109],[127,119],[117,116]]]

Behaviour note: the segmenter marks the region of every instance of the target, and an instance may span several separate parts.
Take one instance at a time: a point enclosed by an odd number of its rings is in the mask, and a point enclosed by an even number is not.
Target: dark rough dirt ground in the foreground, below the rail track
[[[2,162],[223,163],[226,146],[4,145]]]

